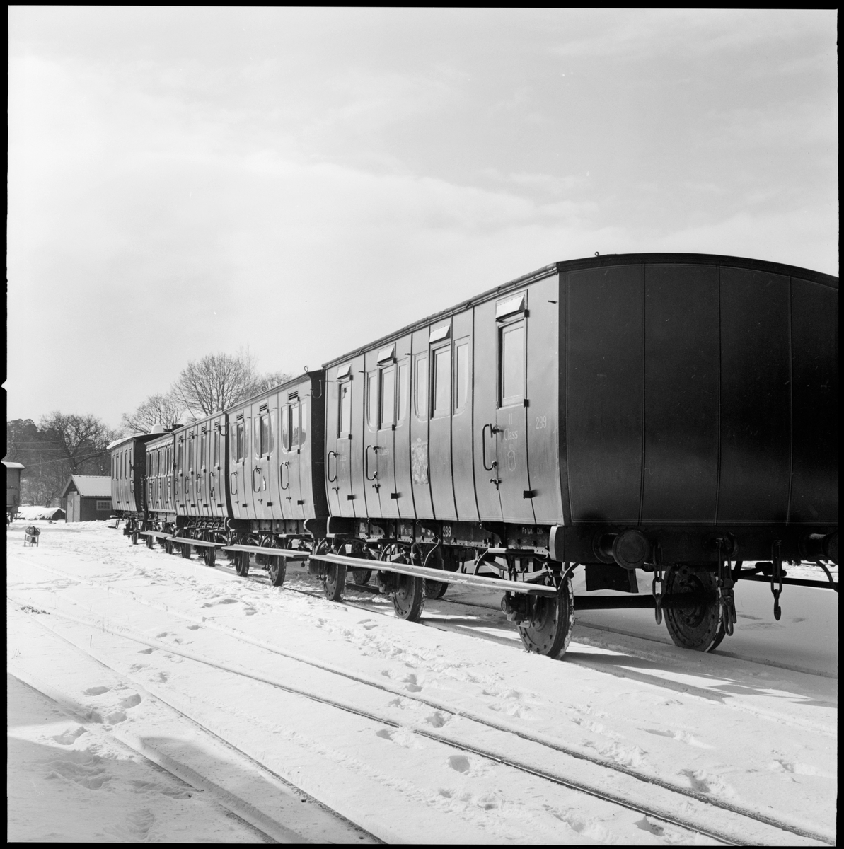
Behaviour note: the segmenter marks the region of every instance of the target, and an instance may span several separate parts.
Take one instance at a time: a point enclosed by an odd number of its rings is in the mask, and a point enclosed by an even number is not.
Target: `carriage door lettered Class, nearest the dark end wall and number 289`
[[[533,506],[527,474],[527,293],[495,305],[498,335],[498,409],[495,423],[495,474],[505,522],[533,525]],[[488,434],[487,434],[488,436]]]

